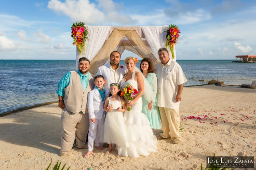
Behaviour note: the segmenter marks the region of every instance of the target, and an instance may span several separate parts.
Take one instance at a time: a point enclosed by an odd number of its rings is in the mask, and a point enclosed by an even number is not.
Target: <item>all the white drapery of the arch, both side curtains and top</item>
[[[99,53],[101,48],[103,47],[106,40],[110,36],[111,32],[114,28],[117,27],[110,27],[110,26],[90,26],[86,25],[86,29],[88,29],[88,40],[85,41],[85,53],[81,54],[81,57],[86,57],[90,61]],[[118,27],[119,28],[119,27]],[[139,34],[139,36],[143,37],[142,40],[147,45],[150,52],[158,58],[158,49],[161,47],[165,47],[165,36],[166,36],[166,29],[168,29],[168,25],[164,25],[162,27],[149,27],[149,26],[141,26],[141,27],[121,27],[120,29],[133,29]],[[126,37],[123,37],[121,40],[130,43],[129,40],[126,40]],[[120,42],[120,43],[121,43]],[[118,46],[119,47],[119,46]],[[116,47],[116,49],[118,48]],[[168,49],[168,48],[167,48]],[[172,58],[172,53],[168,49],[170,58]],[[76,48],[76,69],[78,69],[78,60],[80,58],[80,54],[78,49]],[[176,61],[176,51],[174,46],[174,61]],[[109,60],[107,61],[109,62]],[[102,63],[103,64],[103,63]]]

